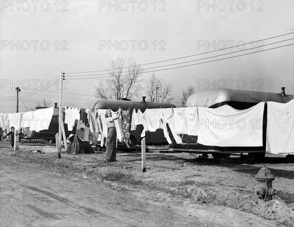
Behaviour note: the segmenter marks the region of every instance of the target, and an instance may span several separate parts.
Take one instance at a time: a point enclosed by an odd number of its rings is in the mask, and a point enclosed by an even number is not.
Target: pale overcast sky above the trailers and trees
[[[44,99],[58,102],[54,79],[59,78],[60,71],[66,73],[65,78],[76,78],[67,80],[64,104],[82,106],[94,99],[95,86],[107,79],[85,75],[106,72],[67,73],[107,70],[118,56],[146,64],[200,54],[142,66],[146,69],[193,61],[145,70],[140,77],[142,87],[152,70],[164,82],[170,81],[175,105],[180,104],[181,91],[189,85],[196,90],[225,87],[275,93],[285,86],[286,94],[294,94],[292,0],[41,0],[13,4],[1,1],[1,112],[16,112],[18,85],[19,111],[30,110]],[[287,33],[292,34],[284,35]],[[280,37],[268,39],[275,36]],[[267,40],[220,50],[263,39]],[[279,41],[284,42],[268,45]],[[272,48],[276,49],[268,50]],[[213,50],[219,51],[205,53]],[[266,51],[256,53],[259,50]],[[214,57],[225,53],[229,54]],[[247,55],[207,62],[241,54]],[[202,59],[207,57],[212,58]],[[197,65],[187,66],[190,64]],[[187,67],[162,70],[179,66]],[[78,76],[70,77],[73,75]],[[82,79],[86,77],[96,78]],[[48,81],[52,86],[45,89]],[[137,100],[144,94],[142,88]]]

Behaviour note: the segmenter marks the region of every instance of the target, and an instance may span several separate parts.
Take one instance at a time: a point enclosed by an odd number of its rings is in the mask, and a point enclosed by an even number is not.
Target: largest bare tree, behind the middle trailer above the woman
[[[143,70],[133,58],[118,57],[110,62],[110,78],[99,80],[95,87],[98,99],[120,100],[136,97],[139,91],[137,81]]]

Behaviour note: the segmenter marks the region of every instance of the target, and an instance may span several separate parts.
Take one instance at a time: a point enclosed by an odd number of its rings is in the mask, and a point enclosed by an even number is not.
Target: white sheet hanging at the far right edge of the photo
[[[294,153],[294,101],[268,102],[267,152]]]

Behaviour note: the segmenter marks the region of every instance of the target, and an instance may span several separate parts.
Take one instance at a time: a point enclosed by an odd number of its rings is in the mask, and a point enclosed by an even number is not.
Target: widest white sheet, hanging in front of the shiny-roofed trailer
[[[220,147],[263,146],[263,102],[237,113],[231,110],[231,113],[219,114],[217,111],[198,107],[198,143]]]

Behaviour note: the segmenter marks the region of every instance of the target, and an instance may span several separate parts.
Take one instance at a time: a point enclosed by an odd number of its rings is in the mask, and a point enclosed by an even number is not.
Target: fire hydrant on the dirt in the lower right
[[[277,191],[272,188],[272,181],[275,177],[270,172],[270,169],[266,166],[261,168],[255,175],[255,178],[259,181],[259,185],[255,189],[257,197],[265,202],[272,200],[272,198],[277,194]]]

